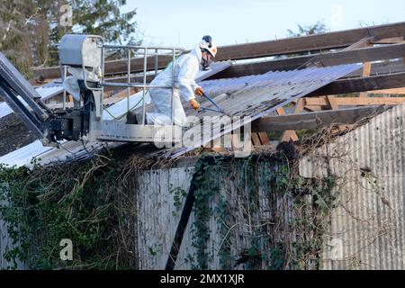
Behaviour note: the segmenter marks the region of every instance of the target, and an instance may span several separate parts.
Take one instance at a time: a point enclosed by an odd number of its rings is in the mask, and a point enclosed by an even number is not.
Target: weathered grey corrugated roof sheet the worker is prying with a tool
[[[227,97],[222,97],[218,103],[225,112],[232,116],[249,116],[251,121],[257,120],[275,109],[283,107],[288,103],[292,103],[306,94],[318,90],[324,85],[355,71],[362,67],[361,65],[341,65],[335,67],[311,67],[302,70],[283,71],[283,72],[268,72],[264,75],[254,76],[250,78],[240,77],[229,80],[229,84],[222,83],[227,80],[211,81],[211,96],[218,95],[224,91],[229,91]],[[222,81],[222,82],[221,82]],[[220,82],[220,89],[215,90],[215,83]],[[240,84],[244,88],[240,89]],[[226,88],[224,89],[224,87]],[[207,88],[210,87],[207,85]],[[204,105],[204,103],[202,103]],[[199,117],[218,115],[215,112],[202,112]],[[246,124],[247,122],[245,122]],[[204,124],[210,124],[205,123]],[[166,151],[166,157],[179,157],[186,152],[208,144],[212,139],[217,139],[222,135],[229,133],[231,130],[238,129],[240,125],[227,125],[224,130],[213,135],[209,141],[200,143],[196,141],[190,147],[178,148]],[[199,130],[195,127],[194,130]],[[195,133],[198,135],[198,133]]]

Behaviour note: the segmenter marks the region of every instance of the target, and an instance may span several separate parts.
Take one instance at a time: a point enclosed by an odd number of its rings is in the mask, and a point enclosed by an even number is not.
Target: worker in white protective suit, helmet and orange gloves
[[[175,60],[175,92],[173,95],[173,120],[175,125],[185,126],[187,119],[180,96],[190,103],[195,110],[200,110],[200,103],[195,94],[203,95],[202,88],[195,83],[195,76],[200,67],[206,68],[217,54],[217,46],[211,36],[204,36],[202,41],[190,52]],[[155,86],[173,85],[173,62],[150,83]],[[172,89],[149,88],[150,98],[155,103],[157,112],[147,113],[147,123],[171,125]]]

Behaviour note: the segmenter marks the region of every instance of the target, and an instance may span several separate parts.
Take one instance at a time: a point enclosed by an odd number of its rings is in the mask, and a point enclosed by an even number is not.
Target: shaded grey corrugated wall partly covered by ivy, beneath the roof
[[[261,183],[258,185],[258,190],[246,179],[234,179],[238,178],[235,175],[244,173],[241,167],[236,170],[226,170],[227,173],[224,175],[218,175],[220,191],[215,192],[210,202],[212,214],[208,220],[209,238],[206,252],[210,269],[223,269],[229,265],[232,269],[246,269],[249,264],[242,261],[237,265],[237,260],[242,257],[241,253],[247,255],[248,249],[254,242],[261,243],[260,247],[264,249],[264,258],[259,263],[263,269],[269,266],[265,255],[270,253],[270,247],[268,247],[270,242],[275,245],[276,243],[289,244],[290,247],[286,248],[293,252],[294,240],[296,240],[295,231],[291,225],[291,220],[294,218],[293,202],[287,194],[270,193],[268,171],[275,171],[276,167],[267,165],[266,162],[259,165],[256,170],[257,181]],[[205,176],[217,175],[212,174]],[[187,167],[144,171],[140,175],[138,243],[141,269],[165,267],[180,214],[180,211],[176,215],[172,213],[175,207],[169,187],[172,184],[173,187],[181,187],[184,191],[188,191],[192,176],[193,168]],[[270,203],[269,197],[273,203]],[[223,202],[227,202],[229,208],[227,213],[229,219],[223,220],[227,225],[225,229],[220,227],[222,220],[219,217],[227,216],[223,214],[219,216],[217,211]],[[275,220],[272,219],[280,220],[275,225],[273,223]],[[176,269],[192,269],[197,265],[196,248],[193,245],[195,240],[192,232],[193,223],[192,212],[177,257]],[[156,252],[153,255],[150,253],[150,247]],[[223,247],[228,250],[221,249]],[[192,261],[189,261],[190,257]]]

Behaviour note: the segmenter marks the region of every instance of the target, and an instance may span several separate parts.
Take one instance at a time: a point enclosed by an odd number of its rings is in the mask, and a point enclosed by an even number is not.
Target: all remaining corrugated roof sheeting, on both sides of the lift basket
[[[229,67],[229,64],[228,66],[224,66],[222,63],[218,69],[214,68],[206,72],[201,71],[199,79],[207,78],[226,67]],[[360,67],[362,67],[362,65],[352,64],[336,67],[311,67],[293,71],[270,71],[264,75],[258,76],[243,76],[233,79],[202,81],[199,85],[202,85],[205,91],[208,94],[211,94],[215,101],[220,103],[220,106],[223,107],[226,112],[235,116],[249,116],[251,117],[249,121],[254,121],[274,112],[278,107],[283,107],[287,103],[292,103],[294,100],[299,99],[306,94],[310,94],[342,76],[352,73]],[[141,97],[142,92],[130,96],[130,105],[139,103]],[[210,107],[206,101],[202,101],[202,106]],[[112,120],[114,117],[124,114],[126,109],[127,99],[124,98],[105,110],[103,119]],[[193,115],[195,112],[191,109],[187,109],[186,113],[188,115]],[[200,118],[212,115],[218,116],[218,113],[198,113],[198,117]],[[194,148],[200,148],[202,145],[208,144],[212,139],[217,139],[221,135],[229,133],[235,128],[235,126],[231,128],[229,125],[218,135],[212,135],[211,133],[208,140],[205,142],[202,142],[202,140],[199,139],[193,142],[189,147],[156,149],[155,151],[150,152],[149,156],[179,157],[186,152],[192,151]],[[41,147],[40,141],[35,141],[27,147],[20,148],[8,155],[0,157],[0,163],[10,166],[29,166],[33,157],[39,158],[39,162],[43,165],[58,161],[82,159],[85,157],[91,157],[94,152],[105,147],[105,145],[116,147],[121,144],[65,142],[61,145],[61,148],[49,148]]]

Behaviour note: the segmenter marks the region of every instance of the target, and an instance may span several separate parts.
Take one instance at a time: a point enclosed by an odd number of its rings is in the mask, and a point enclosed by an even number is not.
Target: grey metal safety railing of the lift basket
[[[108,82],[104,81],[104,55],[106,49],[121,49],[126,51],[127,54],[127,71],[126,71],[126,83],[115,83],[115,82]],[[153,51],[153,52],[150,52]],[[169,53],[167,53],[169,51]],[[130,88],[142,88],[143,95],[142,95],[142,125],[145,124],[146,120],[146,94],[149,88],[165,88],[165,89],[172,89],[172,96],[171,96],[171,123],[172,125],[175,124],[174,121],[174,95],[175,95],[175,58],[181,55],[184,52],[184,49],[173,48],[173,47],[147,47],[147,46],[125,46],[125,45],[103,45],[103,52],[102,52],[102,87],[110,86],[110,87],[127,87],[127,112],[130,112]],[[171,55],[172,60],[172,85],[170,86],[160,86],[160,85],[148,85],[147,76],[148,76],[148,57],[155,57],[155,76],[157,76],[158,70],[158,57],[159,56],[168,56]],[[131,80],[131,60],[132,56],[141,56],[143,57],[143,72],[142,83],[132,83]]]

